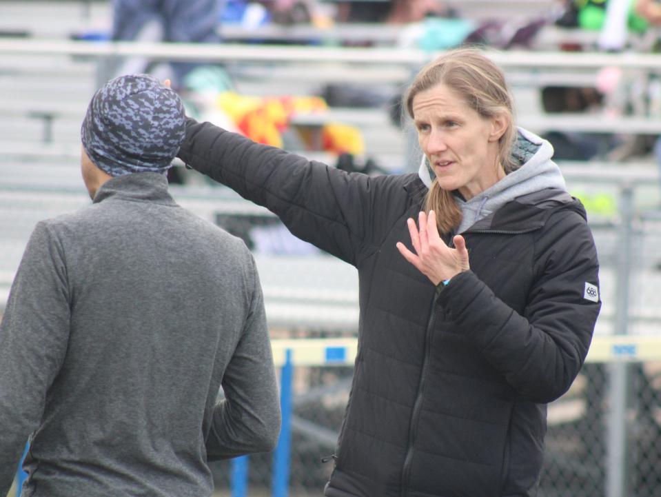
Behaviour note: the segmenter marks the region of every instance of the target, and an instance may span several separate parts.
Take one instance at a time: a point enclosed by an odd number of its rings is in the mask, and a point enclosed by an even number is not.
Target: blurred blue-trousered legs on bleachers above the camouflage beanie
[[[218,43],[225,0],[112,0],[112,41]],[[181,90],[199,63],[172,62],[172,88]],[[144,57],[126,59],[115,74],[148,72]]]

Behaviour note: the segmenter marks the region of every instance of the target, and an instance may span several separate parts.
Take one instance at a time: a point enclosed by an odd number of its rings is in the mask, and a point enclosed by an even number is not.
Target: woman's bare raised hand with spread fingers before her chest
[[[411,244],[416,252],[411,252],[401,242],[397,243],[397,249],[409,263],[427,276],[431,283],[438,285],[441,281],[470,269],[464,237],[454,236],[452,241],[455,248],[448,247],[438,234],[436,213],[433,210],[429,211],[429,216],[420,212],[418,226],[414,219],[407,219],[407,226]]]

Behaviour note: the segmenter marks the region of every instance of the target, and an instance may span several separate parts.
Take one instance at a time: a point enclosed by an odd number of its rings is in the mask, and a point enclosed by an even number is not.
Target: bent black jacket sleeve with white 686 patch
[[[587,223],[574,212],[555,217],[536,242],[539,269],[524,315],[470,271],[452,278],[439,297],[507,382],[536,403],[549,403],[567,392],[587,356],[601,307],[598,297],[593,300],[586,293],[589,285],[599,286],[596,247]]]

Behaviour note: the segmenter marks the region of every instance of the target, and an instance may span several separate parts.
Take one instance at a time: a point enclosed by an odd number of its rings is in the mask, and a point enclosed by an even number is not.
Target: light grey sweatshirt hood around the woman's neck
[[[516,143],[512,148],[514,161],[520,167],[507,174],[495,185],[465,201],[456,196],[456,202],[462,212],[462,221],[457,233],[465,232],[480,219],[496,212],[502,205],[520,196],[553,188],[567,191],[565,179],[558,165],[551,161],[553,145],[523,128],[518,128]],[[418,176],[427,188],[431,186],[434,172],[423,156]]]

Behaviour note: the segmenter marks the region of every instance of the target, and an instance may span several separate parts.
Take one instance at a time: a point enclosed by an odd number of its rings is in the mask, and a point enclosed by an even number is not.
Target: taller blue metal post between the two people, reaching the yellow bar
[[[285,365],[280,377],[280,407],[283,412],[283,425],[280,429],[273,465],[273,497],[287,497],[289,492],[289,448],[292,438],[292,349],[287,349]]]

